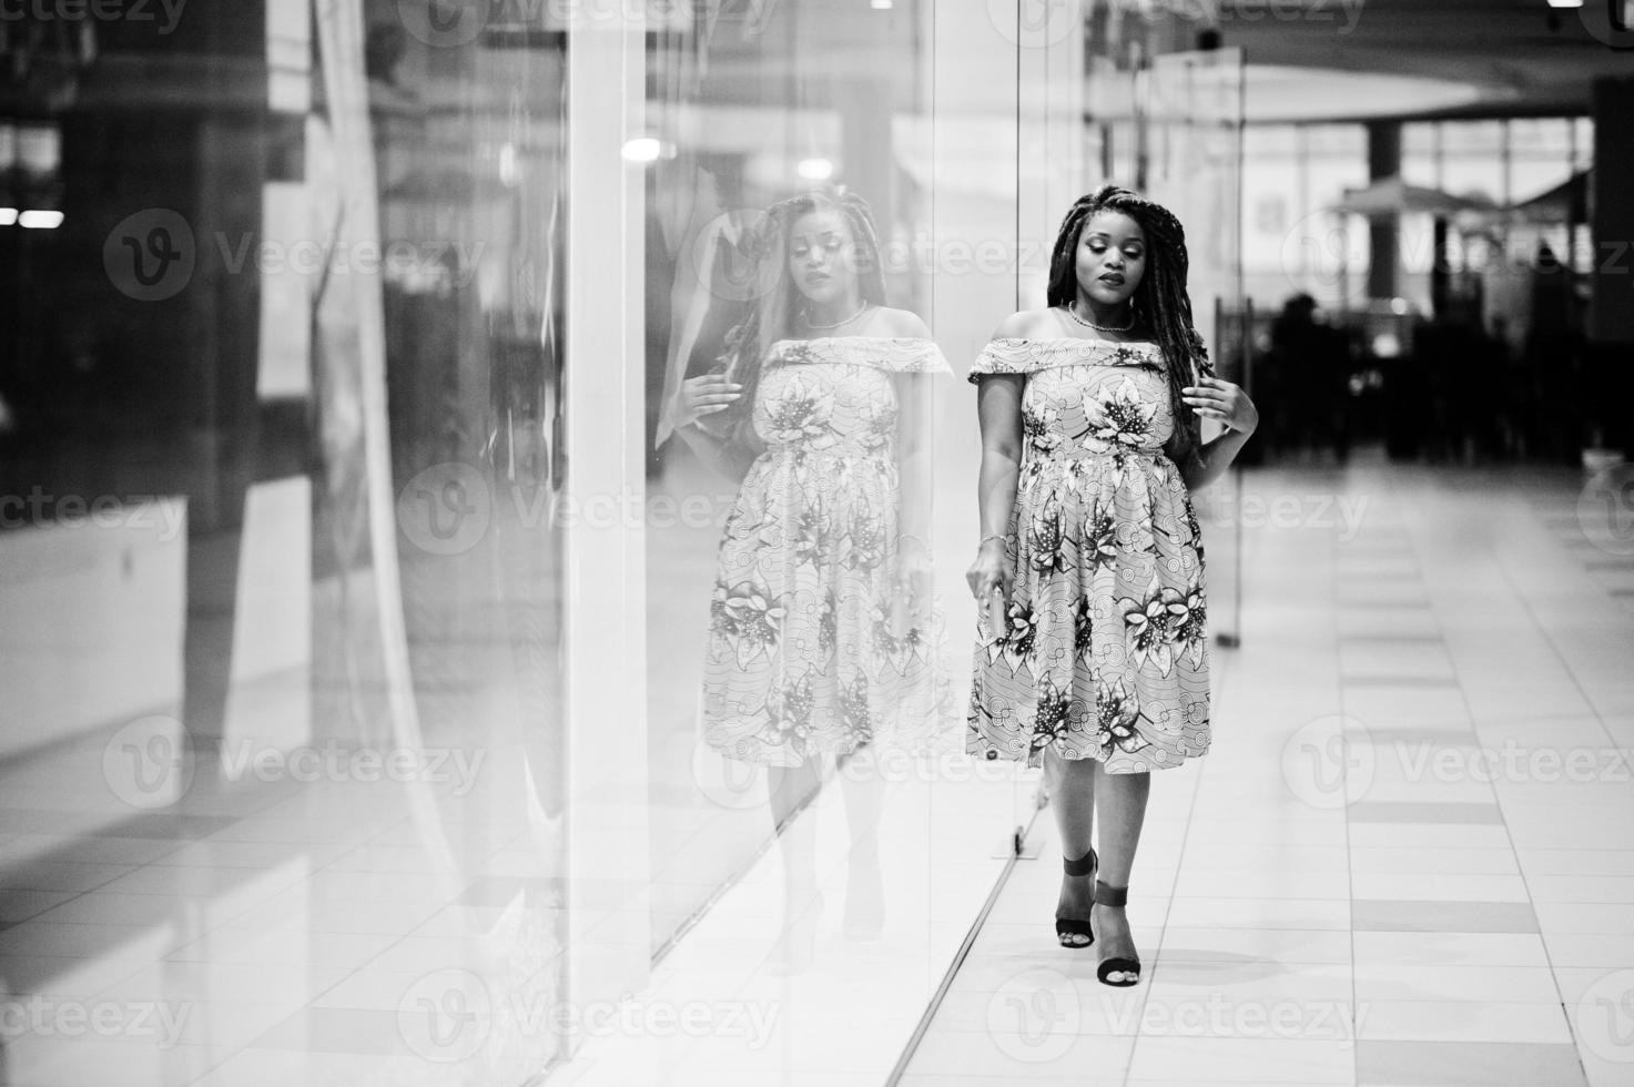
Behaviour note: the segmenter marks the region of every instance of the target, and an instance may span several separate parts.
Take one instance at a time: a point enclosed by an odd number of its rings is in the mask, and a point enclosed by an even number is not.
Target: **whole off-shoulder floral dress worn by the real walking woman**
[[[1025,374],[1007,629],[977,608],[966,750],[1176,767],[1209,747],[1203,539],[1154,343],[998,338],[971,368]]]

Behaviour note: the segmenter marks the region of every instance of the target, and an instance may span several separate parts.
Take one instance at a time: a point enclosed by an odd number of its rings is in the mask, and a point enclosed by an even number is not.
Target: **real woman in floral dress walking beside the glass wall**
[[[1105,186],[1067,212],[1046,309],[1005,319],[979,384],[980,644],[966,749],[1044,767],[1064,850],[1062,946],[1132,986],[1124,915],[1150,772],[1209,747],[1203,541],[1190,492],[1258,423],[1212,376],[1167,209]],[[1226,425],[1203,443],[1199,418]],[[1100,806],[1101,852],[1090,847]]]

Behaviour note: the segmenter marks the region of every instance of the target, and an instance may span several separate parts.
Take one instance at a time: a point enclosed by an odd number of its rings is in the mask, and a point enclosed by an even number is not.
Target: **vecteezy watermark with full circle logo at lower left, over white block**
[[[211,754],[219,758],[219,780],[230,783],[426,783],[449,786],[454,798],[475,788],[487,760],[487,749],[482,747],[343,747],[333,739],[288,745],[245,737]],[[132,721],[108,739],[103,745],[103,781],[131,807],[168,807],[193,788],[199,758],[199,745],[180,721],[154,714]]]

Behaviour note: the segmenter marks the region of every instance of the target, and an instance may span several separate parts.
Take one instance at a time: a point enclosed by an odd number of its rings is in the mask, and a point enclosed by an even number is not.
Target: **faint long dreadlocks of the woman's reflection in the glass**
[[[755,391],[760,387],[761,363],[778,340],[792,338],[792,320],[801,312],[801,289],[789,275],[789,232],[801,216],[814,211],[835,211],[851,230],[856,248],[856,278],[863,301],[886,304],[886,273],[879,257],[879,235],[874,230],[874,214],[868,201],[843,185],[781,199],[766,209],[755,232],[745,239],[748,255],[755,262],[753,283],[763,289],[748,301],[748,312],[727,333],[722,353],[725,376],[743,386],[742,396],[724,417],[717,433],[729,445],[747,448],[753,440]]]

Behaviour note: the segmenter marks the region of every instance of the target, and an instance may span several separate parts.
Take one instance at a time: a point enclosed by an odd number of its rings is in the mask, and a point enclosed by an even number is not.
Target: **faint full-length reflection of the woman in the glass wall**
[[[925,750],[946,719],[930,584],[925,322],[884,297],[866,201],[845,190],[775,204],[755,239],[765,288],[721,373],[686,381],[683,440],[742,479],[716,564],[704,732],[770,768],[776,825],[845,762],[845,928],[877,935],[881,745]],[[784,968],[810,956],[822,904],[810,819],[784,827]]]

